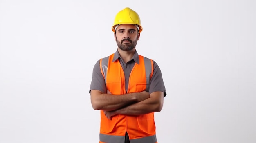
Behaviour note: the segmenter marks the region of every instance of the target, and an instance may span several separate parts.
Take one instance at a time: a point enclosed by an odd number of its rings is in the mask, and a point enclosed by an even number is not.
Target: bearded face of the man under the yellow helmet
[[[123,51],[131,51],[135,49],[139,40],[138,29],[133,24],[121,24],[115,31],[115,40],[118,48]]]

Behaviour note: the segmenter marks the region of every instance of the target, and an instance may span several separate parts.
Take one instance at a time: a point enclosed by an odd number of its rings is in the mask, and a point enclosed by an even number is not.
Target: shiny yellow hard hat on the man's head
[[[115,27],[119,24],[135,24],[139,26],[139,33],[142,31],[142,26],[140,23],[140,18],[138,13],[129,7],[124,8],[119,11],[115,17],[114,24],[112,26],[112,31],[115,32]]]

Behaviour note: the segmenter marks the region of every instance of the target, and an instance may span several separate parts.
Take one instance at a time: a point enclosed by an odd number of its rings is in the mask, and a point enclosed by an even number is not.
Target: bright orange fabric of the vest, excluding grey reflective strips
[[[114,54],[110,55],[108,60],[106,87],[113,95],[118,96],[126,94],[125,76],[119,60],[112,62],[113,57]],[[146,84],[144,57],[139,55],[139,64],[135,63],[130,73],[127,93],[142,92],[146,89]],[[117,114],[110,120],[101,111],[101,134],[125,136],[126,132],[130,139],[155,135],[154,112],[139,116]]]

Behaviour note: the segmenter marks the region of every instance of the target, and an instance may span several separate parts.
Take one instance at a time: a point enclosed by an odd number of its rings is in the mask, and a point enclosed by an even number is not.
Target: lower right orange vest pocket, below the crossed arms
[[[154,113],[144,114],[137,117],[139,136],[155,133]]]

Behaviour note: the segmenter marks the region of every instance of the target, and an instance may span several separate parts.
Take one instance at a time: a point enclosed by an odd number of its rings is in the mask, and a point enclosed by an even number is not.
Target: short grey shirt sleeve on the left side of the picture
[[[103,93],[107,92],[105,79],[101,73],[99,61],[100,60],[96,62],[92,71],[92,82],[91,82],[89,93],[91,93],[91,90],[99,90]]]

